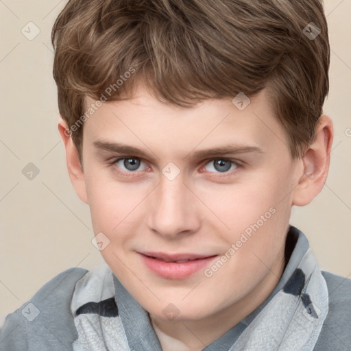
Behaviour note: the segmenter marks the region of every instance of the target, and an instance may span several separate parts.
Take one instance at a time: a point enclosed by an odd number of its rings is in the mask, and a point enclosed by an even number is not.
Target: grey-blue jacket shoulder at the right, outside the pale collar
[[[329,311],[315,351],[351,348],[351,279],[322,271],[328,287]],[[328,348],[329,347],[329,348]]]

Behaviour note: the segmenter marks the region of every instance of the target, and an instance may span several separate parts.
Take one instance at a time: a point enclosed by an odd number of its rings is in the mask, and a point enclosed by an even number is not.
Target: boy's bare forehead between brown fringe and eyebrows
[[[240,110],[232,99],[208,99],[193,108],[164,104],[139,88],[131,99],[102,104],[84,125],[86,142],[128,143],[160,152],[227,144],[250,145],[266,152],[287,147],[285,131],[263,90]],[[95,104],[87,97],[86,108]]]

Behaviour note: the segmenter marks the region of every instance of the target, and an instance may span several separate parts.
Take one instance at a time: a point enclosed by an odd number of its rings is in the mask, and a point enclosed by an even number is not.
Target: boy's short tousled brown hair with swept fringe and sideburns
[[[109,101],[144,82],[160,101],[188,108],[267,88],[299,158],[329,90],[322,0],[70,0],[51,40],[58,107],[70,129],[84,97],[101,99],[108,86]],[[117,84],[126,72],[134,74]],[[80,155],[82,130],[71,130]]]

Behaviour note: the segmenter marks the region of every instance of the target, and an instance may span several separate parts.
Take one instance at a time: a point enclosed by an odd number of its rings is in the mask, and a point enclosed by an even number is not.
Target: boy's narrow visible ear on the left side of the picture
[[[82,202],[88,204],[84,171],[80,163],[77,147],[75,147],[71,138],[71,131],[69,130],[66,121],[63,119],[60,119],[58,122],[58,130],[61,134],[64,148],[66,149],[66,164],[73,188]]]

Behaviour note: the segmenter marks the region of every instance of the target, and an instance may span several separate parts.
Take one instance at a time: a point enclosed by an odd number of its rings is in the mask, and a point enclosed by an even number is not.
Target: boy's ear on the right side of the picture
[[[306,206],[322,191],[328,175],[333,136],[332,120],[322,115],[317,122],[315,137],[301,159],[302,174],[293,190],[293,205]]]

